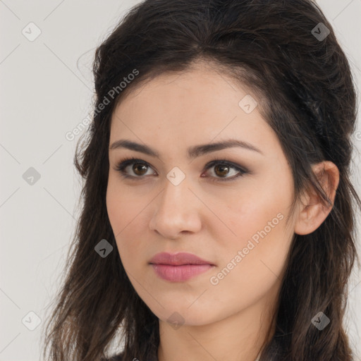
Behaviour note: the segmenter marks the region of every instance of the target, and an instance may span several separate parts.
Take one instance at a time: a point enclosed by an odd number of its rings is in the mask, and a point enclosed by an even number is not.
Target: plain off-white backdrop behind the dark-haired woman
[[[69,141],[66,133],[92,110],[95,48],[138,2],[0,0],[0,361],[40,360],[45,310],[60,286],[80,193],[73,166],[80,135]],[[318,4],[360,88],[361,0]],[[357,131],[360,152],[360,115]],[[353,182],[359,194],[360,164],[355,153]],[[357,227],[360,250],[360,223]],[[357,270],[348,300],[345,324],[360,357]]]

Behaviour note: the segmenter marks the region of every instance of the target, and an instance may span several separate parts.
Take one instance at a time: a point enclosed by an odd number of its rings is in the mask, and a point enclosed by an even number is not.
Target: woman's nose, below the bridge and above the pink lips
[[[167,179],[155,202],[156,209],[149,228],[164,238],[180,238],[184,233],[195,233],[202,228],[200,211],[204,205],[195,196],[194,190],[190,190],[186,180],[173,185]]]

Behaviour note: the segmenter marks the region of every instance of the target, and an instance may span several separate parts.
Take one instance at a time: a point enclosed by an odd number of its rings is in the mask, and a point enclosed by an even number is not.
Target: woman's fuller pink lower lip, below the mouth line
[[[192,277],[202,274],[213,268],[211,264],[182,264],[172,266],[171,264],[152,264],[155,273],[166,281],[181,282],[192,279]]]

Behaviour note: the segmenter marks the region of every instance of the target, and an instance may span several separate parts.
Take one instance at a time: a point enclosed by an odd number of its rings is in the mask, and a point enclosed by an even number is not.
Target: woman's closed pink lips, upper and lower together
[[[215,266],[212,262],[188,252],[178,252],[173,255],[167,252],[157,253],[149,264],[152,265],[157,276],[172,282],[187,281]]]

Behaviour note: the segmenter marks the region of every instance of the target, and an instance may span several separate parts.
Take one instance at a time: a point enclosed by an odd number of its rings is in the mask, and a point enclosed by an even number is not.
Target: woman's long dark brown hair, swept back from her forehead
[[[188,71],[201,61],[257,95],[260,114],[292,169],[295,201],[313,187],[324,204],[331,204],[313,164],[329,160],[340,173],[329,216],[316,231],[293,237],[274,315],[276,331],[260,360],[271,352],[276,360],[353,360],[342,322],[357,259],[355,209],[361,207],[350,182],[356,94],[334,30],[311,0],[146,0],[97,48],[94,116],[74,159],[85,179],[84,203],[66,279],[47,324],[51,360],[108,357],[120,330],[123,360],[157,355],[159,320],[123,269],[106,211],[111,116],[116,104],[146,80]],[[131,80],[126,87],[120,85],[124,78]],[[102,239],[114,247],[106,258],[94,252]],[[322,332],[311,324],[320,311],[331,319]]]

